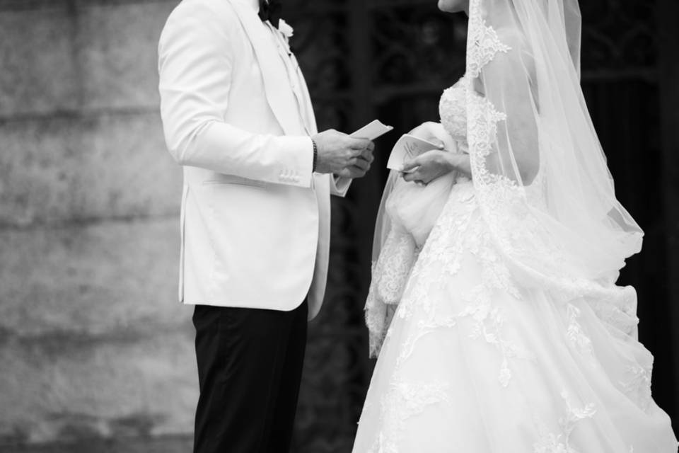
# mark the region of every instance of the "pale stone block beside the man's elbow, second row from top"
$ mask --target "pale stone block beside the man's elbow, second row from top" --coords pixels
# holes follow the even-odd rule
[[[170,157],[160,115],[112,115],[85,131],[75,217],[179,212],[182,170]]]

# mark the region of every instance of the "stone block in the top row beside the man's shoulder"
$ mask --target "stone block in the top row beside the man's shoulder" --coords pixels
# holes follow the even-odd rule
[[[79,10],[85,108],[156,108],[158,38],[174,2],[92,5]]]

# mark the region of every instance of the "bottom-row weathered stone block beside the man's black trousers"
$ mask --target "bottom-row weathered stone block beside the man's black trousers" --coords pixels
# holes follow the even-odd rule
[[[193,339],[10,338],[0,342],[0,442],[190,434],[197,401]],[[9,409],[11,408],[11,409]]]

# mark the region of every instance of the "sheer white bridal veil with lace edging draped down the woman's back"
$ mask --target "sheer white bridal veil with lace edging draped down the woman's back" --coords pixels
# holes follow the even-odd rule
[[[472,180],[497,246],[540,287],[584,296],[615,290],[643,233],[588,114],[580,32],[577,0],[470,0],[465,81]]]

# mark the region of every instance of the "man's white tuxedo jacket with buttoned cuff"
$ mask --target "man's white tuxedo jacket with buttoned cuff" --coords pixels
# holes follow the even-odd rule
[[[323,302],[330,175],[312,173],[316,125],[279,33],[252,0],[184,0],[158,46],[161,117],[184,166],[180,301],[289,311]],[[291,57],[293,62],[294,56]],[[306,108],[311,115],[301,114]],[[303,111],[303,110],[302,110]]]

